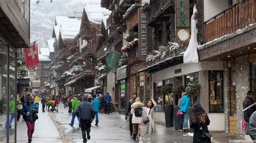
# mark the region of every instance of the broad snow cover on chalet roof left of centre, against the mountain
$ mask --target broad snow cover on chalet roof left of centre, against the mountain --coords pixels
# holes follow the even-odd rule
[[[81,18],[57,16],[56,24],[59,25],[59,31],[62,39],[74,39],[77,33],[79,33]],[[57,30],[58,29],[56,28],[56,33]],[[58,35],[56,34],[56,37],[57,36]]]

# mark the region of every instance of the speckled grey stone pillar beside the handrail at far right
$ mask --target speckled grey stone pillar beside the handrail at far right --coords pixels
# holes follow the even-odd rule
[[[238,117],[238,132],[240,133],[240,126],[242,120],[242,101],[246,97],[246,93],[250,90],[250,63],[249,56],[241,56],[235,59],[237,65],[237,117]]]

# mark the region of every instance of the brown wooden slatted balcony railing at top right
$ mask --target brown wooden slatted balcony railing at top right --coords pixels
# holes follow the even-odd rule
[[[256,22],[256,1],[237,3],[209,19],[205,25],[205,40],[210,42]]]

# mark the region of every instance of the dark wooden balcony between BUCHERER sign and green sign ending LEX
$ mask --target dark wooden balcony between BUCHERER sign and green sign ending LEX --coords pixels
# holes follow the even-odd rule
[[[164,21],[166,17],[170,17],[170,12],[174,13],[174,0],[155,0],[146,5],[147,23],[151,23],[155,20]]]

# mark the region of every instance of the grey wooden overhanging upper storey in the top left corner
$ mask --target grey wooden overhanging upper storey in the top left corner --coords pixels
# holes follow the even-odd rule
[[[0,1],[0,33],[17,47],[30,45],[29,5],[29,0]]]

